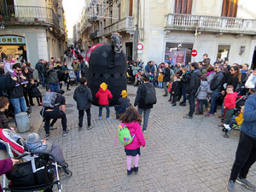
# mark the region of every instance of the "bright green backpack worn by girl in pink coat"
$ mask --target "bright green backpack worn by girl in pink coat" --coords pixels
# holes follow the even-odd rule
[[[134,134],[131,137],[131,133],[125,124],[121,123],[119,125],[117,137],[119,137],[119,142],[122,143],[124,146],[130,144],[133,138],[135,137],[135,135],[136,134]],[[115,143],[116,143],[116,140],[115,140]]]

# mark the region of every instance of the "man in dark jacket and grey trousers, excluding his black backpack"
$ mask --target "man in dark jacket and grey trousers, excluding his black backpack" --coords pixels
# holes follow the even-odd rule
[[[137,96],[135,98],[134,107],[137,106],[138,113],[143,115],[143,132],[145,132],[148,127],[149,113],[151,108],[153,108],[153,104],[145,104],[145,95],[146,90],[150,89],[150,86],[153,86],[153,84],[149,83],[149,73],[144,73],[142,78],[143,84],[140,84],[137,88]]]

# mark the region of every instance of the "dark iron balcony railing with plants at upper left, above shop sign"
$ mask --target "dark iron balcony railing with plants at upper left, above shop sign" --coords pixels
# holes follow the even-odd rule
[[[0,22],[39,23],[59,28],[53,9],[35,6],[0,6]]]

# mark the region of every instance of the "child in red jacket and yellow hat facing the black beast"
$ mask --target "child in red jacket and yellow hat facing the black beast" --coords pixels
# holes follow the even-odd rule
[[[108,90],[108,84],[102,83],[100,85],[100,89],[96,93],[96,98],[99,98],[99,119],[102,119],[102,108],[106,108],[107,110],[107,119],[109,119],[109,101],[108,99],[112,99],[113,96]]]

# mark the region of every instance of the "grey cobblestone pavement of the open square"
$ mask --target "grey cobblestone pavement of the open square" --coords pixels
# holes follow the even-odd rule
[[[98,108],[91,108],[94,128],[78,129],[78,111],[73,101],[74,86],[67,91],[67,125],[70,133],[62,137],[61,121],[58,129],[51,131],[49,141],[63,149],[73,177],[61,173],[63,191],[225,191],[234,161],[239,133],[233,131],[229,138],[218,127],[216,116],[183,119],[187,107],[172,107],[168,98],[157,89],[158,102],[150,113],[148,131],[144,134],[147,147],[142,149],[139,172],[126,175],[125,151],[117,143],[114,109],[111,119],[97,119]],[[137,88],[128,86],[132,103]],[[84,117],[86,119],[86,117]],[[41,131],[44,137],[44,131]],[[254,165],[248,179],[256,181]],[[249,191],[237,185],[238,191]]]

